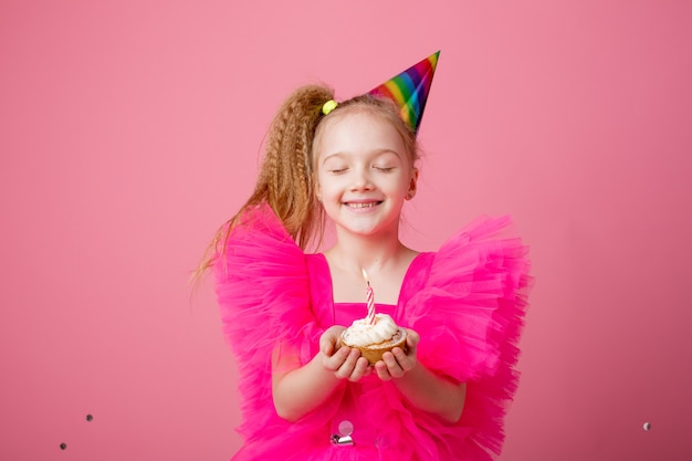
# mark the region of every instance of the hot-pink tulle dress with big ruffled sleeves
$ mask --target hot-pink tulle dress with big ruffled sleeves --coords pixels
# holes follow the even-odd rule
[[[415,408],[375,374],[344,380],[325,405],[291,423],[274,410],[272,352],[290,345],[307,363],[326,328],[348,326],[367,310],[365,302],[333,302],[324,255],[304,254],[268,206],[247,212],[214,261],[223,328],[240,374],[244,443],[232,459],[445,461],[500,453],[517,385],[528,282],[526,248],[493,237],[507,223],[478,220],[437,253],[420,253],[397,305],[377,305],[420,334],[421,364],[468,384],[458,423]]]

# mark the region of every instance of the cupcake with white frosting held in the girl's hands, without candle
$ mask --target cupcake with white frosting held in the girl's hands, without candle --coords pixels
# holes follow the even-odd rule
[[[342,333],[342,345],[360,350],[360,355],[375,365],[382,354],[395,347],[406,352],[406,329],[399,328],[387,314],[375,315],[370,325],[367,318],[355,321]]]

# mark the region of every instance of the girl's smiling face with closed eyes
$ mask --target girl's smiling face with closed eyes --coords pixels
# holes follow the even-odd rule
[[[367,109],[338,114],[324,127],[315,155],[317,199],[339,232],[398,237],[418,170],[389,122]]]

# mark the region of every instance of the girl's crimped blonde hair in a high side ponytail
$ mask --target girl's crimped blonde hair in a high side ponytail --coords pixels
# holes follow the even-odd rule
[[[401,135],[411,165],[418,159],[416,134],[401,119],[391,99],[360,95],[339,103],[328,116],[323,115],[322,107],[333,98],[331,88],[307,85],[294,91],[283,102],[269,129],[254,191],[238,213],[217,231],[192,280],[201,277],[213,264],[218,252],[224,253],[228,237],[243,213],[262,203],[269,203],[301,249],[321,243],[325,218],[315,195],[315,150],[332,124],[328,121],[336,121],[337,114],[368,111],[382,116]]]

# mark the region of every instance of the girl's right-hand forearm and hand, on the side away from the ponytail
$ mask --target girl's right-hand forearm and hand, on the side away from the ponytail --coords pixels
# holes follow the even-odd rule
[[[457,422],[461,418],[466,399],[466,385],[439,376],[416,358],[420,336],[408,329],[408,354],[396,347],[385,353],[375,365],[380,379],[391,379],[403,397],[417,408],[440,418]]]

